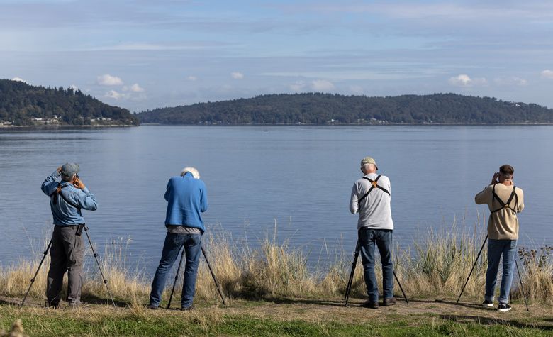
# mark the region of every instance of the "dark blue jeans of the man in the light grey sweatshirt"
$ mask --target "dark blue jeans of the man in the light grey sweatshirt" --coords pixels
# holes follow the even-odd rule
[[[391,229],[359,229],[359,243],[361,243],[361,259],[367,294],[370,302],[378,302],[379,286],[374,275],[374,245],[379,248],[380,263],[382,264],[382,286],[385,299],[393,297],[393,264],[391,258]]]

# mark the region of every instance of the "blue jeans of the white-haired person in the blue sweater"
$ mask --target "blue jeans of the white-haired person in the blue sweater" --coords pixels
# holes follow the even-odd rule
[[[179,251],[184,245],[186,265],[184,267],[184,282],[182,283],[181,306],[189,308],[192,306],[194,292],[196,290],[196,275],[201,253],[201,234],[174,234],[167,233],[163,244],[162,258],[160,265],[155,271],[150,293],[150,306],[160,306],[162,292],[167,280],[167,274],[177,260]]]

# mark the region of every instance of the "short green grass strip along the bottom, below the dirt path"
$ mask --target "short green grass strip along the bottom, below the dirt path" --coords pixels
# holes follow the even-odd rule
[[[240,304],[241,306],[241,304]],[[552,336],[551,326],[440,314],[381,312],[370,320],[241,314],[240,308],[141,311],[109,306],[71,311],[0,306],[0,328],[23,321],[29,336]],[[296,315],[294,315],[296,316]]]

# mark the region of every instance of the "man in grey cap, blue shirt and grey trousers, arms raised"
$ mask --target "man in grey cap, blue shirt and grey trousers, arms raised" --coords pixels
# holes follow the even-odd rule
[[[82,266],[84,243],[77,233],[79,225],[84,225],[81,209],[96,211],[96,197],[84,186],[77,173],[80,167],[66,163],[52,172],[40,189],[50,197],[54,232],[50,248],[50,270],[46,284],[47,307],[60,305],[60,291],[63,275],[67,272],[67,302],[70,307],[81,304]],[[57,178],[61,181],[57,182]]]

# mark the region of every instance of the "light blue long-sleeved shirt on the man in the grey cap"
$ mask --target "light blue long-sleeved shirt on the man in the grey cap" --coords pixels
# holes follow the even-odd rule
[[[63,194],[65,199],[71,201],[74,205],[80,206],[82,209],[96,211],[98,203],[96,202],[96,197],[94,197],[94,194],[91,194],[89,189],[86,187],[84,189],[78,189],[70,182],[65,182],[63,180],[57,182],[57,177],[60,177],[60,173],[54,171],[44,180],[42,187],[40,187],[44,194],[51,196],[57,189],[57,185],[61,184],[61,194]],[[50,209],[54,217],[54,224],[57,226],[73,226],[84,223],[81,212],[74,206],[68,204],[63,197],[56,194],[54,198],[50,198]],[[54,199],[56,201],[55,204],[53,202]]]

